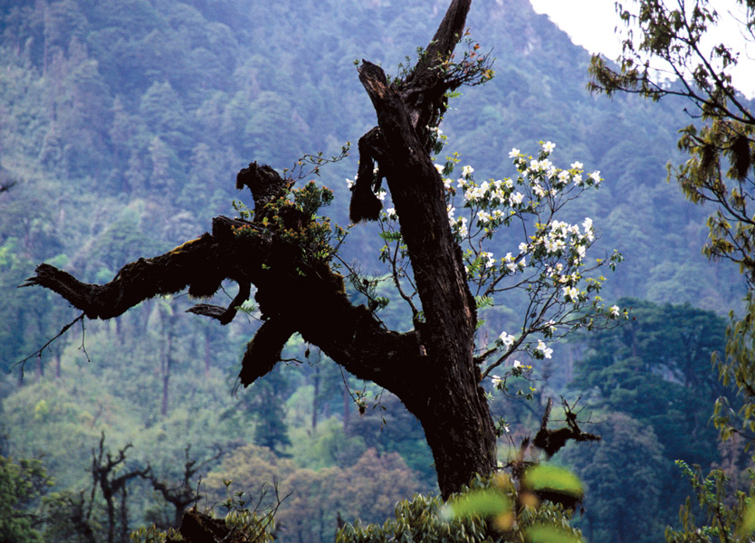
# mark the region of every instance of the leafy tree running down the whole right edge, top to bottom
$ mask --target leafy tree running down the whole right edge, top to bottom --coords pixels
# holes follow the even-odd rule
[[[722,14],[712,2],[694,0],[663,2],[636,0],[636,9],[617,5],[626,24],[623,50],[613,67],[594,56],[590,67],[591,90],[612,96],[637,93],[651,100],[681,97],[692,120],[680,130],[679,148],[688,156],[669,167],[684,195],[695,204],[713,205],[708,219],[709,238],[702,252],[712,260],[728,260],[740,266],[748,285],[744,317],[731,312],[725,357],[718,358],[724,385],[734,384],[745,401],[735,410],[726,398],[716,402],[714,421],[724,439],[740,434],[755,439],[755,116],[736,89],[732,70],[741,58],[731,43],[711,43],[710,31],[725,16],[738,27],[747,43],[755,41],[755,2],[737,0],[739,13]],[[731,35],[731,31],[727,31]],[[746,55],[745,55],[746,56]],[[666,76],[671,80],[667,81]],[[685,466],[683,466],[684,468]],[[721,540],[746,540],[755,527],[742,517],[744,495],[732,509],[731,492],[721,471],[705,478],[686,468],[698,501],[708,514],[709,525],[697,529],[690,503],[682,510],[683,530],[667,531],[673,541],[699,540],[701,532]],[[742,525],[742,521],[744,524]],[[745,529],[736,530],[738,525]]]

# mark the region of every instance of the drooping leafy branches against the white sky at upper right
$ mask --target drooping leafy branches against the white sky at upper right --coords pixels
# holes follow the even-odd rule
[[[709,241],[703,253],[712,260],[740,264],[752,286],[755,261],[750,252],[755,241],[755,223],[749,209],[752,167],[755,164],[755,117],[735,88],[731,70],[740,61],[731,45],[717,44],[708,52],[699,46],[708,38],[722,14],[706,1],[691,5],[665,5],[656,0],[636,0],[633,13],[617,5],[627,27],[636,24],[637,37],[628,31],[618,60],[618,71],[593,56],[589,88],[606,92],[637,92],[660,100],[681,96],[702,119],[680,130],[678,147],[689,158],[678,167],[669,166],[683,194],[693,203],[712,202],[716,211],[708,219]],[[741,18],[729,14],[729,22],[752,33],[755,6],[740,0]],[[670,67],[679,82],[665,85],[653,71]],[[728,167],[727,167],[728,166]]]

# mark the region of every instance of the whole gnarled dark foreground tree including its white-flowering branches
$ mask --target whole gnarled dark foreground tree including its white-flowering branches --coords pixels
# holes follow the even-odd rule
[[[492,472],[496,429],[483,378],[499,384],[502,377],[492,372],[509,371],[502,365],[513,353],[548,358],[552,349],[546,340],[619,318],[617,306],[604,309],[596,296],[602,276],[589,273],[613,267],[620,256],[588,264],[592,221],[557,219],[564,205],[601,179],[579,162],[556,167],[550,141],[541,143],[534,157],[511,150],[515,180],[477,183],[468,166],[453,180],[456,157],[434,164],[450,93],[492,77],[479,45],[467,41],[461,59],[454,58],[470,4],[454,0],[416,65],[396,78],[389,81],[371,62],[358,69],[377,127],[359,139],[350,215],[354,223],[379,221],[383,227],[381,260],[395,296],[411,311],[409,331],[388,329],[378,317],[388,300],[375,295],[375,280],[340,262],[366,304],[349,300],[335,263],[344,231],[334,232],[318,215],[320,206],[330,203],[330,191],[314,182],[294,188],[297,177],[291,172],[281,176],[256,162],[236,181],[237,188],[251,190],[253,210],[237,205],[240,217],[216,217],[212,233],[131,262],[105,285],[82,283],[49,264],[40,265],[27,284],[58,292],[91,319],[111,319],[141,300],[186,287],[191,296],[209,297],[228,279],[239,285],[228,307],[192,308],[222,324],[234,319],[254,285],[263,324],[244,354],[244,386],[268,374],[288,339],[299,333],[354,376],[397,395],[417,417],[444,497],[473,474]],[[304,157],[298,178],[319,175],[327,161]],[[381,214],[381,198],[387,197],[383,180],[394,207]],[[456,199],[457,192],[463,198]],[[456,205],[465,216],[454,215]],[[505,256],[492,248],[492,237],[502,228],[516,232]],[[518,244],[511,242],[514,236],[521,236]],[[521,328],[478,337],[478,312],[514,295],[526,300]]]

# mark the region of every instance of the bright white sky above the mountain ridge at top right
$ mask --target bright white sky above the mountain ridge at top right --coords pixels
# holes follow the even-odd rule
[[[571,41],[589,52],[601,52],[608,59],[616,60],[621,51],[620,40],[615,33],[620,23],[616,15],[614,0],[530,0],[539,14],[548,14],[550,20],[569,34]],[[624,2],[631,5],[630,1]],[[734,85],[748,97],[755,97],[755,44],[744,46],[738,26],[733,23],[730,11],[741,10],[734,0],[711,0],[711,4],[721,15],[721,28],[717,42],[740,44],[740,62],[737,71],[732,72]],[[589,14],[589,15],[586,15]],[[738,15],[740,16],[740,15]],[[724,26],[726,20],[730,22]],[[749,54],[748,54],[749,52]]]

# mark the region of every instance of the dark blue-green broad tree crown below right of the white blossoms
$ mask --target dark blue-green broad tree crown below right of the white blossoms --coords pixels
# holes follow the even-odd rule
[[[688,304],[620,301],[631,319],[588,338],[572,388],[592,391],[596,407],[652,425],[670,461],[711,465],[718,456],[711,405],[731,397],[712,373],[712,356],[725,347],[724,320]]]

